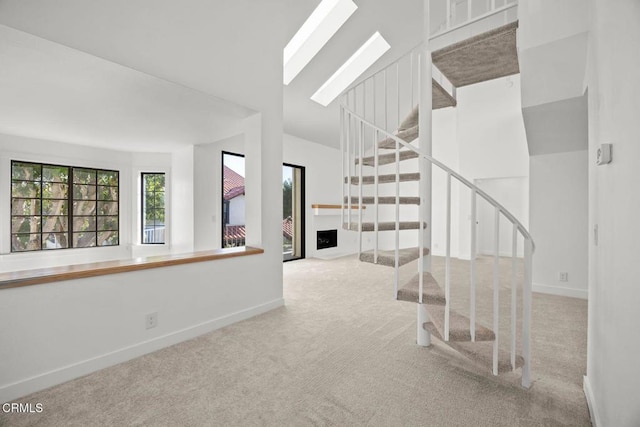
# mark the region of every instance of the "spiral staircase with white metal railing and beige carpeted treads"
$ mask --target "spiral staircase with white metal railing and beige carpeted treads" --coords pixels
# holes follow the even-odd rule
[[[513,28],[511,25],[507,30]],[[495,39],[495,34],[496,31],[492,31],[489,35]],[[473,42],[477,44],[478,40],[481,37],[474,37]],[[425,73],[424,67],[429,67],[430,72]],[[418,105],[420,99],[422,97],[423,103],[425,97],[431,99],[426,103],[428,113],[431,108],[456,105],[455,88],[438,69],[431,67],[431,55],[424,46],[419,46],[342,95],[343,228],[359,233],[360,261],[394,270],[395,298],[418,304],[419,344],[428,345],[432,337],[441,340],[494,375],[521,368],[522,385],[529,387],[533,240],[500,203],[431,156],[430,120],[423,122],[429,134],[421,132],[421,115],[426,113],[423,105]],[[420,85],[424,76],[432,79],[431,85]],[[423,93],[421,86],[425,88]],[[450,90],[444,89],[446,87]],[[445,177],[446,189],[441,193],[446,196],[444,200],[432,201],[436,173]],[[469,283],[452,283],[451,279],[452,183],[468,192],[471,205]],[[495,212],[493,288],[488,307],[479,306],[485,301],[476,298],[478,202],[488,203]],[[362,214],[352,215],[352,209],[344,208],[354,205]],[[428,227],[435,205],[444,206],[446,211],[445,274],[441,284],[430,272]],[[501,218],[511,224],[510,230],[500,230]],[[504,346],[501,340],[505,338],[500,335],[501,252],[498,246],[501,232],[512,236],[510,319],[505,340],[508,345]],[[399,283],[399,269],[415,268],[414,261],[418,264],[417,274],[407,283]],[[522,279],[518,278],[519,269],[523,271]],[[454,285],[468,286],[464,310],[458,309],[460,304],[456,304],[456,310],[452,309]],[[421,315],[421,310],[426,314]],[[491,318],[480,319],[479,312],[490,312]]]

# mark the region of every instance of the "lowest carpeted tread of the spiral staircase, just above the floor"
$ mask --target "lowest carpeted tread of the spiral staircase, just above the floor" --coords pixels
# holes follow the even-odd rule
[[[432,337],[436,337],[439,340],[444,341],[437,329],[427,325],[429,324],[425,323],[425,328],[431,332]],[[449,341],[446,344],[469,359],[479,368],[493,372],[493,341]],[[524,358],[519,354],[516,354],[516,369],[521,368],[523,365]],[[510,372],[511,370],[511,353],[498,349],[498,374]]]

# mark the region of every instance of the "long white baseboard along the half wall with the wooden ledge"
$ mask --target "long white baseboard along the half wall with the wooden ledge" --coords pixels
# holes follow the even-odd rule
[[[0,402],[9,402],[36,391],[62,384],[92,372],[99,371],[100,369],[108,368],[109,366],[117,365],[119,363],[126,362],[127,360],[195,338],[207,332],[223,328],[231,325],[232,323],[266,313],[267,311],[271,311],[283,305],[284,299],[278,298],[264,304],[240,310],[213,320],[208,320],[161,337],[156,337],[101,356],[63,366],[12,384],[4,385],[0,387]]]

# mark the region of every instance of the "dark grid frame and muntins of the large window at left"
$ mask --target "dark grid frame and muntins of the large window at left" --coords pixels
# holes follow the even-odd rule
[[[37,166],[40,168],[40,179],[39,181],[29,181],[29,182],[33,182],[33,183],[39,183],[39,194],[38,197],[15,197],[13,194],[13,183],[14,182],[24,182],[26,180],[20,180],[20,179],[14,179],[14,167],[16,164],[20,164],[20,165],[33,165],[33,166]],[[44,168],[46,167],[54,167],[54,168],[66,168],[68,170],[68,175],[67,175],[67,182],[63,183],[67,186],[67,194],[66,194],[66,198],[65,199],[48,199],[48,198],[43,198],[43,187],[45,182],[49,182],[49,181],[44,181]],[[81,184],[81,183],[74,183],[74,170],[85,170],[85,171],[91,171],[94,176],[95,176],[95,184]],[[100,185],[98,183],[98,174],[100,172],[106,172],[106,173],[115,173],[116,179],[117,179],[117,184],[116,185]],[[69,165],[61,165],[61,164],[55,164],[55,163],[46,163],[46,162],[33,162],[33,161],[25,161],[25,160],[11,160],[11,165],[10,165],[10,183],[11,183],[11,189],[9,191],[9,197],[11,199],[11,203],[10,203],[10,215],[9,215],[9,222],[10,222],[10,228],[9,228],[9,235],[10,235],[10,244],[9,244],[9,252],[12,254],[19,254],[19,253],[27,253],[27,252],[50,252],[50,251],[56,251],[56,250],[61,250],[61,249],[87,249],[87,248],[105,248],[105,247],[115,247],[115,246],[120,246],[120,237],[121,237],[121,224],[120,224],[120,171],[119,170],[115,170],[115,169],[107,169],[107,168],[97,168],[97,167],[85,167],[85,166],[69,166]],[[52,181],[52,182],[57,182],[57,181]],[[95,197],[93,199],[85,199],[87,201],[92,201],[95,202],[95,211],[93,215],[76,215],[74,213],[74,201],[80,201],[83,199],[75,199],[74,198],[74,185],[90,185],[90,186],[94,186],[95,187]],[[115,188],[116,189],[116,200],[111,200],[111,199],[104,199],[104,200],[100,200],[99,199],[99,187],[107,187],[107,188]],[[40,209],[39,209],[39,214],[38,215],[34,215],[34,217],[38,217],[40,220],[40,227],[39,227],[39,231],[36,233],[14,233],[13,232],[13,220],[16,217],[24,217],[24,215],[15,215],[14,214],[14,199],[29,199],[29,200],[36,200],[40,203]],[[50,215],[45,215],[43,213],[43,200],[64,200],[67,203],[67,215],[66,215],[66,225],[67,225],[67,230],[66,231],[60,231],[60,232],[55,232],[55,234],[64,234],[67,237],[67,246],[66,247],[60,247],[60,248],[45,248],[44,247],[44,241],[46,240],[44,235],[45,233],[51,234],[53,232],[47,232],[43,230],[43,218],[50,216]],[[100,215],[99,214],[99,210],[98,210],[98,205],[99,202],[109,202],[109,203],[113,203],[115,202],[117,204],[117,213],[115,215]],[[95,229],[94,230],[88,230],[88,231],[84,231],[83,233],[94,233],[95,234],[95,245],[93,246],[74,246],[74,234],[79,234],[74,232],[73,229],[73,223],[74,223],[74,219],[76,218],[93,218],[95,221]],[[99,219],[100,218],[105,218],[105,217],[115,217],[116,218],[116,229],[110,229],[110,230],[100,230],[99,229]],[[117,243],[115,244],[110,244],[110,245],[98,245],[98,235],[100,232],[102,231],[111,231],[111,232],[115,232],[117,233]],[[20,235],[20,234],[31,234],[31,235],[39,235],[40,236],[40,245],[39,248],[37,249],[26,249],[26,250],[15,250],[14,249],[14,244],[13,244],[13,238],[16,235]]]

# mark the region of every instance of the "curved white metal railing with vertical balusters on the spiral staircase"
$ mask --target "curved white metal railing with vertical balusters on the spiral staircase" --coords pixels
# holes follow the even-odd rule
[[[495,333],[495,341],[493,348],[493,373],[498,373],[498,345],[499,345],[499,259],[500,259],[500,219],[505,218],[511,224],[511,258],[512,258],[512,286],[511,286],[511,365],[513,369],[516,367],[516,348],[518,341],[517,332],[517,295],[518,280],[517,269],[519,265],[518,245],[519,239],[523,241],[523,258],[524,258],[524,280],[522,283],[522,312],[520,319],[522,321],[522,332],[520,335],[520,343],[522,346],[522,357],[524,365],[522,371],[522,384],[525,387],[530,385],[530,326],[531,326],[531,288],[532,288],[532,255],[535,250],[533,239],[526,227],[502,204],[478,188],[472,182],[464,178],[462,175],[446,166],[444,163],[433,158],[430,154],[423,152],[420,148],[413,146],[410,142],[401,139],[396,133],[399,132],[403,117],[402,111],[413,110],[415,101],[419,99],[419,83],[416,84],[415,77],[420,72],[420,53],[417,53],[417,63],[415,61],[416,52],[412,50],[408,55],[394,62],[385,69],[363,80],[359,84],[350,88],[345,92],[341,99],[341,150],[343,153],[342,171],[345,177],[346,186],[343,185],[343,200],[346,199],[346,206],[352,205],[352,198],[358,197],[358,205],[360,214],[357,216],[357,230],[359,231],[359,251],[362,252],[363,240],[363,166],[367,160],[373,163],[374,175],[374,260],[377,262],[379,250],[379,170],[380,165],[379,143],[385,141],[385,147],[393,148],[394,161],[392,167],[395,171],[395,285],[394,292],[397,296],[398,291],[398,268],[399,268],[399,251],[400,251],[400,160],[406,157],[418,158],[421,171],[421,185],[432,185],[431,182],[425,183],[426,176],[431,175],[431,168],[435,166],[446,174],[446,255],[445,255],[445,319],[444,319],[444,340],[449,340],[449,320],[451,306],[451,183],[452,180],[459,182],[467,187],[471,192],[471,242],[470,242],[470,332],[471,339],[475,341],[475,325],[476,325],[476,266],[475,259],[477,255],[477,199],[480,197],[485,200],[494,210],[494,253],[493,253],[493,331]],[[401,72],[402,63],[408,63],[408,69]],[[416,65],[417,64],[417,72]],[[389,76],[389,74],[392,74]],[[394,75],[395,73],[395,75]],[[405,78],[408,76],[408,78]],[[391,89],[389,87],[391,86]],[[379,95],[382,90],[383,95]],[[417,90],[417,93],[414,91]],[[391,92],[391,96],[390,96]],[[409,108],[406,108],[407,105]],[[404,107],[404,108],[403,108]],[[382,111],[383,110],[383,111]],[[391,125],[390,125],[391,124]],[[417,126],[417,123],[416,123]],[[397,129],[396,133],[390,131],[390,128]],[[416,130],[418,128],[416,127]],[[402,151],[401,151],[402,149]],[[407,153],[411,154],[407,156]],[[389,156],[387,154],[387,156]],[[352,166],[355,170],[352,171]],[[357,174],[358,185],[357,194],[352,192],[352,177]],[[346,187],[346,188],[345,188]],[[427,209],[426,200],[423,196],[424,192],[420,191],[421,203],[419,222],[422,224],[426,216]],[[430,194],[430,192],[429,192]],[[430,197],[429,197],[430,199]],[[342,221],[347,229],[352,228],[355,222],[352,218],[352,209],[342,210]],[[422,228],[420,228],[422,230]],[[423,252],[424,252],[424,233],[419,233],[419,253],[420,253],[420,282],[419,282],[419,302],[422,303],[423,295]]]

